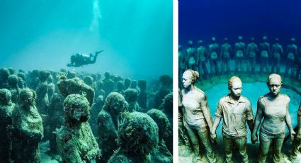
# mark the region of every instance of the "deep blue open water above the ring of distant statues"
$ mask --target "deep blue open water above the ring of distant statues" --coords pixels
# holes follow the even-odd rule
[[[301,43],[300,7],[297,0],[179,0],[179,45],[186,47],[188,40],[193,40],[196,46],[203,40],[208,47],[213,36],[220,45],[225,37],[233,45],[238,35],[245,43],[251,37],[259,43],[267,35],[270,43],[278,37],[286,50],[291,37],[297,45]]]

